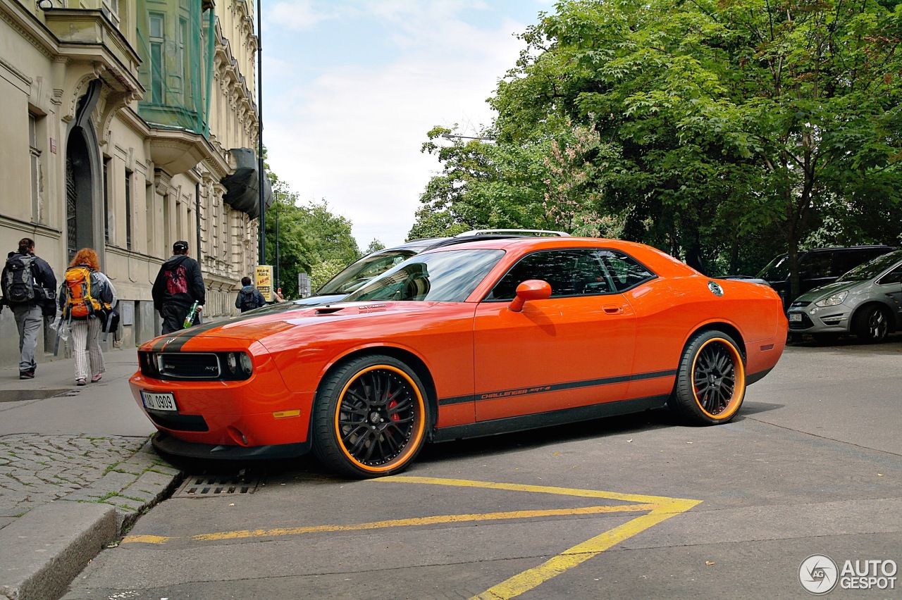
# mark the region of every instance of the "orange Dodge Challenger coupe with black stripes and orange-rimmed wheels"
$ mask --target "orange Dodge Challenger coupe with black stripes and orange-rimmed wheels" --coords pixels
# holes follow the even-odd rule
[[[281,303],[170,333],[131,378],[161,452],[298,456],[379,477],[426,441],[669,407],[729,422],[787,339],[778,295],[639,243],[474,241],[340,304]]]

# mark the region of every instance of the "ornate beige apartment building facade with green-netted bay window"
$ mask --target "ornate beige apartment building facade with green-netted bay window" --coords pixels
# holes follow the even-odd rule
[[[201,265],[207,318],[253,274],[255,31],[247,0],[0,0],[0,241],[32,238],[58,279],[97,250],[124,347],[160,333],[151,286],[174,241]],[[0,332],[12,367],[8,310]],[[39,361],[53,341],[45,328]]]

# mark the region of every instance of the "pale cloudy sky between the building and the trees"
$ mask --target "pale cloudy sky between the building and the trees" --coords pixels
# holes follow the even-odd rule
[[[302,203],[325,199],[361,250],[404,241],[439,170],[435,125],[474,134],[515,34],[551,0],[262,0],[263,143]]]

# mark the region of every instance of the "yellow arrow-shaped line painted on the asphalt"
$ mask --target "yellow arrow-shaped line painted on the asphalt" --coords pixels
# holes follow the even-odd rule
[[[272,537],[277,535],[298,535],[313,532],[353,532],[381,529],[385,527],[410,527],[415,525],[432,525],[440,523],[468,523],[474,521],[498,521],[508,519],[529,519],[535,517],[563,516],[569,514],[604,514],[604,513],[636,513],[649,511],[627,523],[623,523],[613,529],[596,535],[594,538],[574,547],[564,550],[551,559],[546,560],[538,567],[530,568],[522,573],[514,575],[502,583],[492,586],[471,600],[508,600],[528,592],[552,577],[557,577],[570,568],[592,559],[604,550],[612,548],[621,541],[627,540],[637,533],[643,532],[649,527],[661,523],[677,514],[685,513],[693,506],[700,504],[701,500],[689,500],[686,498],[670,498],[663,495],[635,495],[620,494],[617,492],[603,492],[594,489],[578,489],[554,486],[529,486],[522,484],[493,483],[489,481],[471,481],[468,479],[445,479],[438,477],[412,477],[394,476],[369,479],[374,483],[414,483],[434,486],[479,487],[483,489],[499,489],[514,492],[529,492],[533,494],[573,495],[586,498],[604,498],[606,500],[618,500],[633,502],[633,505],[603,505],[585,506],[580,508],[561,508],[536,511],[510,511],[503,513],[484,514],[444,514],[412,519],[392,519],[389,521],[375,521],[372,523],[354,523],[350,525],[312,525],[308,527],[284,527],[276,529],[244,530],[237,532],[202,533],[193,535],[191,541],[220,541],[235,540],[251,537]],[[162,544],[178,538],[160,535],[129,535],[123,543],[143,542]]]

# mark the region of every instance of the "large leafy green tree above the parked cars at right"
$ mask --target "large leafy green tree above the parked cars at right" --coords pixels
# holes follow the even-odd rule
[[[521,37],[498,145],[593,131],[583,201],[675,255],[900,202],[902,13],[866,0],[571,0]],[[899,223],[897,219],[895,223]],[[866,236],[866,221],[856,224]],[[899,227],[881,234],[898,235]],[[872,241],[861,239],[860,241]],[[888,240],[876,240],[888,241]]]

